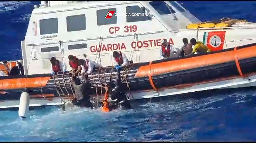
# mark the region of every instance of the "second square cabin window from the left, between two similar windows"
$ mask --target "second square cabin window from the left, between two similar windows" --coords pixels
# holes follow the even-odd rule
[[[67,16],[67,31],[80,31],[86,29],[85,14]]]

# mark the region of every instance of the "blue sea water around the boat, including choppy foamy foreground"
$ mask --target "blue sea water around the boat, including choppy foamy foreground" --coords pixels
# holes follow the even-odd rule
[[[256,22],[255,1],[179,1],[201,21],[229,17]],[[0,61],[21,59],[28,13],[39,1],[0,2]],[[198,93],[199,94],[199,93]],[[0,111],[5,141],[256,141],[256,89],[232,89],[202,98],[134,104],[103,113],[55,106],[35,109],[25,120]]]

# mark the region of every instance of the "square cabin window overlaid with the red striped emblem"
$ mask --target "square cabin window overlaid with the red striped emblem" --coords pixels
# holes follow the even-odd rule
[[[105,18],[109,11],[115,11],[111,18]],[[97,10],[97,25],[109,25],[109,24],[116,24],[117,23],[117,16],[116,16],[117,9],[99,9]]]

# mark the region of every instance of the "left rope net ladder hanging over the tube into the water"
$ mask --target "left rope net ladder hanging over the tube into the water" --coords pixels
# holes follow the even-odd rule
[[[71,110],[73,110],[74,105],[72,100],[75,97],[75,93],[71,84],[71,79],[72,77],[70,77],[69,72],[58,72],[56,75],[53,75],[54,85],[61,99],[62,111],[65,111],[65,104],[68,104],[68,102],[70,102]],[[68,101],[66,101],[66,99]]]

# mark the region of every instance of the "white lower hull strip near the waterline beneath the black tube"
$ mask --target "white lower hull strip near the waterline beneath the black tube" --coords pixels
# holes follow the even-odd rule
[[[250,79],[250,80],[248,80]],[[249,76],[247,78],[236,78],[231,80],[218,81],[213,83],[204,83],[200,85],[194,85],[184,89],[164,89],[161,92],[157,91],[141,91],[132,92],[129,100],[132,99],[143,99],[143,98],[153,98],[160,96],[174,96],[176,94],[190,93],[203,90],[213,90],[213,89],[229,89],[229,88],[240,88],[240,87],[250,87],[256,86],[256,75]],[[66,100],[67,103],[69,103]],[[29,106],[49,106],[49,105],[61,105],[61,100],[59,97],[54,97],[52,101],[44,99],[31,99]],[[13,108],[19,106],[19,100],[6,100],[0,102],[0,108]]]

